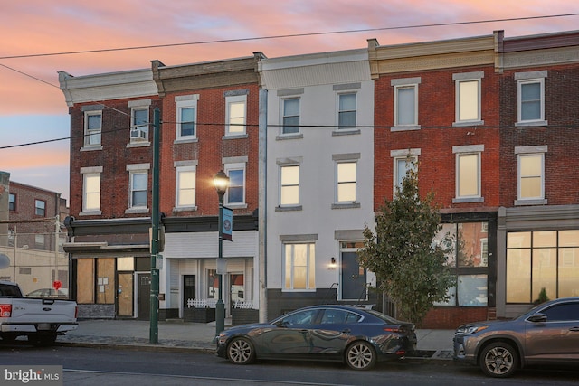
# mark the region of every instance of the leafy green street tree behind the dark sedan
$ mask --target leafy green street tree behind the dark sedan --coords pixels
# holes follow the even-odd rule
[[[448,235],[435,241],[441,230],[441,204],[434,202],[433,192],[420,199],[416,165],[412,166],[394,200],[386,199],[376,213],[375,232],[365,226],[365,246],[358,250],[358,259],[375,272],[378,289],[394,302],[398,317],[421,325],[434,302],[449,300],[447,291],[455,278],[447,256],[453,242]]]

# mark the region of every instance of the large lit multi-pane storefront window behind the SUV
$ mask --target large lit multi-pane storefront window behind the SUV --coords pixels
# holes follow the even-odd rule
[[[577,297],[579,230],[507,233],[507,303]]]

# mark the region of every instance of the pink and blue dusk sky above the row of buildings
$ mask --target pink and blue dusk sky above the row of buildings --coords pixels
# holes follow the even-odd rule
[[[577,15],[504,21],[560,14]],[[503,21],[486,22],[493,20]],[[508,38],[572,31],[578,22],[574,0],[3,2],[0,170],[12,181],[69,198],[70,119],[57,71],[81,76],[146,69],[152,60],[177,65],[252,52],[273,58],[365,48],[373,38],[386,45],[495,30]],[[418,27],[426,24],[453,25]],[[307,33],[319,34],[281,37]]]

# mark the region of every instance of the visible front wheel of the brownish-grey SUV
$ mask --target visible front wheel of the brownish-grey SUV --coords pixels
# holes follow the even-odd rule
[[[518,353],[510,344],[494,342],[482,349],[479,364],[485,375],[507,378],[517,371]]]

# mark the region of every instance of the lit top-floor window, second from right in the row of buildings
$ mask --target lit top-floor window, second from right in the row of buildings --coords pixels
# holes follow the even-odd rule
[[[483,71],[452,75],[456,85],[456,108],[453,126],[482,125],[480,116],[480,85]]]

